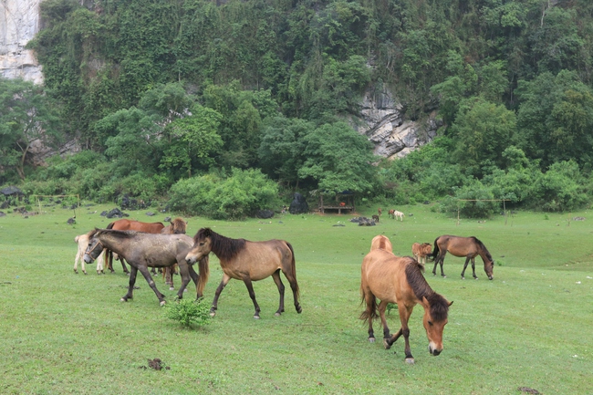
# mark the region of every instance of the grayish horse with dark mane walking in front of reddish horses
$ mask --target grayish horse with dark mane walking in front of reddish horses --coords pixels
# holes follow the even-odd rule
[[[190,282],[190,278],[195,283],[197,297],[203,296],[203,288],[208,282],[209,275],[208,257],[204,256],[200,260],[200,275],[197,275],[192,265],[188,265],[185,261],[185,255],[192,248],[192,237],[185,234],[145,234],[111,229],[96,229],[89,236],[90,240],[84,256],[85,262],[89,263],[99,256],[103,248],[109,248],[130,264],[130,285],[128,293],[121,298],[122,302],[132,298],[136,275],[140,271],[154,294],[159,298],[161,306],[164,305],[164,295],[159,292],[152,281],[148,268],[168,267],[174,264],[179,265],[182,275],[182,286],[177,292],[177,297],[180,299],[183,297],[183,290]]]

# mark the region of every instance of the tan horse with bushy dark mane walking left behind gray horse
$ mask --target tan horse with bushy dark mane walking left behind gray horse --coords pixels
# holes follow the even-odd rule
[[[260,308],[255,300],[252,281],[264,279],[270,275],[280,293],[280,306],[276,316],[284,312],[284,284],[280,279],[280,271],[286,276],[290,283],[295,298],[296,312],[303,311],[298,303],[298,283],[296,283],[295,252],[292,245],[285,240],[268,240],[266,242],[250,242],[245,239],[232,239],[213,232],[210,228],[202,228],[193,236],[192,250],[185,259],[189,264],[196,260],[203,259],[212,251],[220,260],[223,268],[223,281],[221,281],[216,293],[210,315],[216,314],[218,308],[218,297],[223,292],[224,286],[231,280],[243,280],[249,296],[254,302],[254,318],[259,318]]]

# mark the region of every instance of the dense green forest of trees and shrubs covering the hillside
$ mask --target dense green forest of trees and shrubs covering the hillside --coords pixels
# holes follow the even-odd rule
[[[41,13],[28,47],[45,86],[0,79],[0,184],[216,218],[311,191],[443,211],[591,203],[588,0],[45,0]],[[385,88],[405,119],[442,120],[396,161],[348,121]],[[84,151],[34,168],[39,137]]]

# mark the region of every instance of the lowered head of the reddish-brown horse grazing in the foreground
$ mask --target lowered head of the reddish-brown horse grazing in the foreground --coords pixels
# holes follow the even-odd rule
[[[432,293],[428,298],[422,296],[421,305],[424,307],[422,323],[429,341],[428,352],[437,356],[442,352],[442,331],[447,325],[449,307],[453,305],[453,302],[448,302],[441,295]]]

